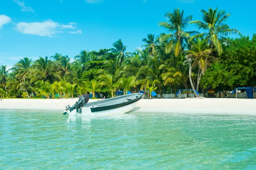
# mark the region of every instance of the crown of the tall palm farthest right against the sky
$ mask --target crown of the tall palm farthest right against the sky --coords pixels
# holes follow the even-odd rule
[[[195,20],[190,23],[195,24],[198,29],[202,28],[207,32],[194,35],[190,40],[205,37],[209,41],[210,48],[216,49],[216,51],[218,51],[218,55],[221,55],[222,47],[220,39],[225,38],[229,34],[239,33],[239,31],[231,29],[226,24],[230,14],[226,14],[226,11],[224,10],[218,11],[218,8],[215,10],[209,8],[208,11],[201,10],[200,12],[202,13],[203,21]]]

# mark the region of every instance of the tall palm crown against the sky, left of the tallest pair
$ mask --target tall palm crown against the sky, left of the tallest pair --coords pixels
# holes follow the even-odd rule
[[[192,20],[192,15],[184,16],[184,10],[180,11],[179,8],[173,10],[173,13],[166,13],[165,18],[167,22],[158,23],[160,26],[165,28],[167,31],[173,32],[171,34],[164,34],[160,36],[160,40],[169,42],[166,45],[166,53],[170,53],[174,50],[175,57],[180,54],[180,51],[184,49],[186,45],[186,39],[189,38],[191,34],[196,34],[195,31],[184,31],[188,26],[189,22]]]

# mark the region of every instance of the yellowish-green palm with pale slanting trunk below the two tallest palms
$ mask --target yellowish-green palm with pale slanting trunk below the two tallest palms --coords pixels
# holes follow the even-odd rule
[[[185,51],[187,53],[187,55],[185,56],[187,60],[185,62],[189,62],[190,65],[191,65],[191,62],[193,62],[192,65],[189,66],[191,68],[195,68],[196,65],[199,66],[197,87],[196,87],[196,90],[198,91],[202,74],[204,74],[208,66],[211,67],[210,61],[215,62],[217,58],[210,56],[210,54],[212,53],[212,49],[208,48],[207,39],[204,39],[204,40],[198,39],[196,42],[192,41],[191,43],[192,43],[191,51],[188,51],[188,50]],[[190,80],[190,83],[192,83],[192,80]]]

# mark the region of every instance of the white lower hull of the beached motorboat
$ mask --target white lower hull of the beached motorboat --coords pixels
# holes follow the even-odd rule
[[[106,116],[106,115],[115,115],[115,114],[122,114],[127,113],[131,110],[133,110],[136,106],[137,102],[133,102],[129,105],[125,105],[119,108],[113,108],[107,111],[97,111],[92,112],[92,107],[83,107],[81,108],[81,113],[76,112],[76,110],[73,110],[69,113],[69,115],[81,115],[81,116]]]

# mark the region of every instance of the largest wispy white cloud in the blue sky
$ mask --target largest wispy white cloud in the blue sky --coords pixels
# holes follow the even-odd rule
[[[76,29],[76,23],[69,23],[68,25],[61,25],[52,20],[46,20],[44,22],[35,23],[17,23],[15,29],[23,34],[32,34],[39,36],[54,37],[55,34],[60,33],[71,33],[71,34],[81,34],[81,30],[77,33],[76,31],[63,31],[64,29]]]

